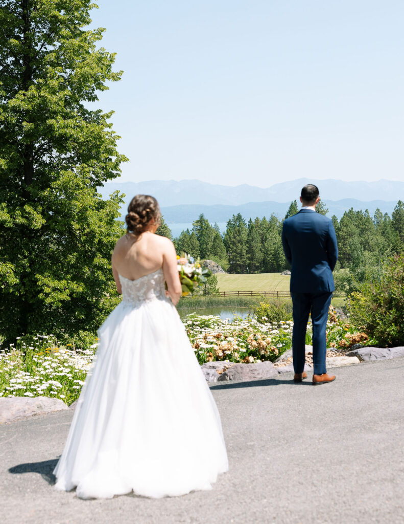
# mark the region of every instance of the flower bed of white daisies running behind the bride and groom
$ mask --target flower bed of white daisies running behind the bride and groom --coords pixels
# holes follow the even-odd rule
[[[199,364],[206,362],[255,363],[274,362],[291,348],[292,321],[270,323],[254,318],[232,321],[215,315],[187,315],[185,329]],[[67,405],[80,395],[85,377],[91,369],[97,339],[87,348],[58,344],[53,335],[36,335],[18,339],[17,344],[0,349],[0,397],[53,397]],[[365,333],[330,311],[327,347],[344,354],[355,343],[373,344]],[[307,326],[306,344],[311,345],[311,323]]]

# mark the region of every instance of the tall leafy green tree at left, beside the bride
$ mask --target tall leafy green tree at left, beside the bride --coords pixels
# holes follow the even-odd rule
[[[90,108],[117,81],[88,29],[89,0],[0,0],[0,334],[94,331],[117,303],[110,255],[118,193],[97,187],[126,158],[112,112]]]

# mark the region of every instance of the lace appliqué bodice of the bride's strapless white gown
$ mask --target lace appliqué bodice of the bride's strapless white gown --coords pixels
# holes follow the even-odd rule
[[[150,300],[168,300],[165,296],[164,275],[160,268],[149,275],[130,280],[119,275],[122,286],[122,303],[132,307],[139,307],[143,302]]]

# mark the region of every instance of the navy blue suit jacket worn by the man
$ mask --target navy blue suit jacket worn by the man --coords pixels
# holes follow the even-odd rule
[[[332,271],[338,259],[334,225],[311,209],[301,209],[283,223],[282,244],[291,264],[290,291],[334,291]]]

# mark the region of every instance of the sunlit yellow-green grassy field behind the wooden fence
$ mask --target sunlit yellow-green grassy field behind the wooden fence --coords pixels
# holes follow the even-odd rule
[[[220,291],[289,291],[290,276],[279,273],[216,276]]]

